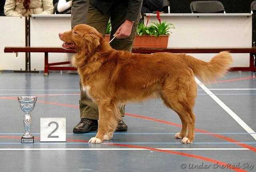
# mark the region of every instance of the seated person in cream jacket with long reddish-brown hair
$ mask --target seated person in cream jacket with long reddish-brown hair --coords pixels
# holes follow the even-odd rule
[[[6,16],[28,16],[31,14],[53,14],[52,0],[6,0]]]

